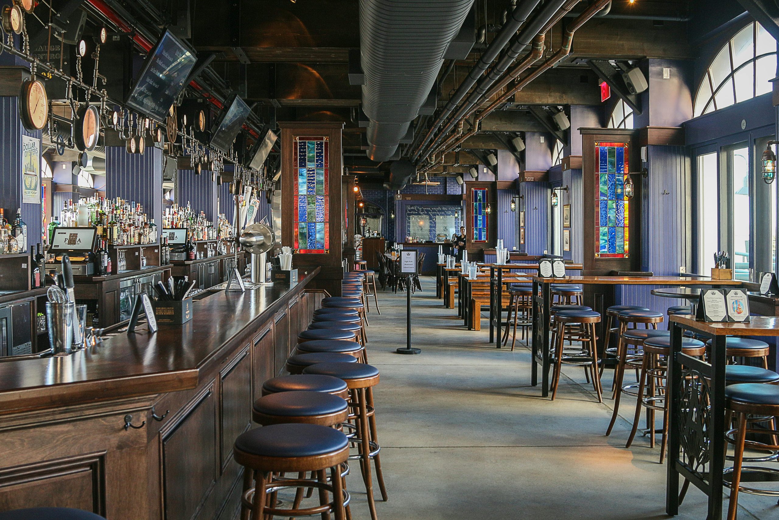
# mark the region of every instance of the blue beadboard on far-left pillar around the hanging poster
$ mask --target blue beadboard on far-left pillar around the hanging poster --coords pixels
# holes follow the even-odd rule
[[[19,120],[19,98],[0,97],[0,207],[13,221],[21,207],[27,225],[27,248],[41,242],[41,204],[22,203],[22,136],[41,139],[41,132],[27,132]]]

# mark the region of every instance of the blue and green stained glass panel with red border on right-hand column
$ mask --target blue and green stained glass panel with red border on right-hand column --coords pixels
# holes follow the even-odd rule
[[[628,258],[627,143],[595,143],[595,257]]]

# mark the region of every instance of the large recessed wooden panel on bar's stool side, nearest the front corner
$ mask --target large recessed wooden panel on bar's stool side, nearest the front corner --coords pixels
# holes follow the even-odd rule
[[[165,520],[191,520],[217,481],[213,384],[189,401],[162,438]]]

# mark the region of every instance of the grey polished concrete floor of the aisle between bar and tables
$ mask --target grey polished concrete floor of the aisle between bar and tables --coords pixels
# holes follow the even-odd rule
[[[435,299],[435,282],[422,284],[411,310],[421,355],[394,352],[406,342],[405,294],[379,292],[382,314],[369,314],[390,493],[377,502],[380,520],[668,518],[659,447],[650,449],[646,437],[624,447],[635,401],[605,437],[612,400],[598,404],[581,369],[566,370],[555,401],[541,398],[530,386],[526,348],[488,345],[487,327],[465,330],[456,310]],[[358,472],[348,487],[353,518],[370,518]],[[779,518],[770,497],[740,502],[738,518]],[[691,489],[677,518],[706,518],[703,493]]]

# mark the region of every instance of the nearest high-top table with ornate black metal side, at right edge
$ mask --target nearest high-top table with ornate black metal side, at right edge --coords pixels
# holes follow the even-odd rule
[[[684,331],[693,331],[713,340],[710,363],[682,353]],[[779,318],[753,316],[749,323],[712,323],[671,316],[671,358],[666,374],[666,387],[671,389],[665,489],[668,515],[679,514],[681,475],[687,481],[685,487],[693,483],[709,497],[708,518],[722,518],[724,432],[728,427],[725,424],[727,336],[779,336]],[[689,401],[683,409],[682,398]]]

